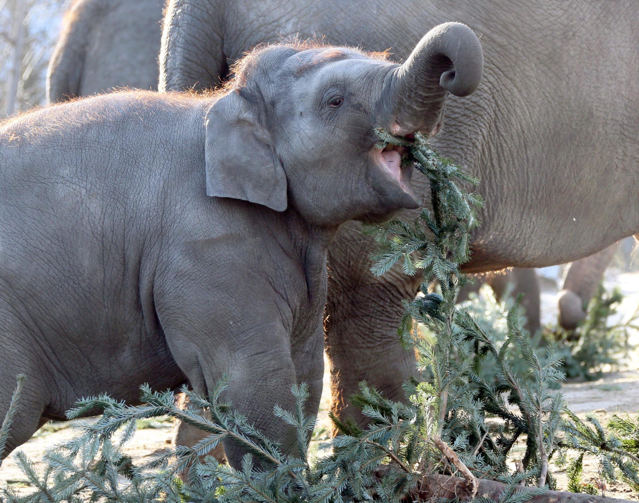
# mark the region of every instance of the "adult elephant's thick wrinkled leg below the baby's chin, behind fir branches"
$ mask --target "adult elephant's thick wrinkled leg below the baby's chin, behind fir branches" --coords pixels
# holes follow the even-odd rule
[[[344,226],[329,250],[326,350],[332,412],[340,419],[366,419],[350,397],[362,380],[391,400],[404,400],[402,384],[415,375],[415,354],[399,344],[404,299],[413,299],[420,277],[394,267],[381,277],[369,271],[374,241],[357,224]],[[334,432],[335,433],[335,432]]]

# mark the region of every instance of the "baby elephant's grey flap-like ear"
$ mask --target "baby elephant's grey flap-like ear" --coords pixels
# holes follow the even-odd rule
[[[242,199],[275,211],[288,204],[286,174],[249,101],[236,92],[206,115],[206,193]]]

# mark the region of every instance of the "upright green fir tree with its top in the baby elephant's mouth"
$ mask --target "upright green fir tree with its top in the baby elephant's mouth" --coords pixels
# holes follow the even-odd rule
[[[404,273],[423,275],[421,296],[406,301],[399,338],[404,346],[416,347],[420,368],[429,368],[434,377],[428,391],[433,396],[437,435],[476,474],[510,483],[536,480],[540,487],[553,488],[548,460],[557,449],[564,402],[548,385],[563,379],[557,370],[560,359],[550,352],[544,364],[539,361],[530,340],[521,333],[517,308],[509,315],[505,342],[498,345],[468,312],[456,306],[459,288],[468,282],[460,266],[470,259],[470,233],[479,225],[477,209],[482,206],[481,197],[458,182],[475,186],[478,181],[440,158],[419,133],[413,142],[382,130],[378,135],[385,143],[410,148],[406,161],[414,161],[431,186],[433,209],[423,209],[413,225],[396,220],[367,232],[381,246],[373,256],[373,273],[383,274],[401,261]],[[434,291],[435,282],[441,294]],[[420,338],[418,323],[436,334],[434,347]],[[511,346],[527,362],[527,375],[516,375],[510,368]],[[479,372],[487,358],[498,368],[497,386]],[[518,407],[519,414],[509,409],[509,403]],[[503,421],[492,432],[485,421],[489,416]],[[509,475],[507,456],[524,435],[523,470]]]

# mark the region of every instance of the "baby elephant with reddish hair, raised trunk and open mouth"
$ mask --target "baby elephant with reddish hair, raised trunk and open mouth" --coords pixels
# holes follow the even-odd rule
[[[215,94],[122,92],[4,123],[0,417],[27,382],[3,456],[81,396],[206,393],[223,373],[225,400],[291,449],[272,408],[304,381],[317,412],[328,244],[344,221],[419,206],[374,128],[436,130],[482,64],[449,23],[403,65],[273,45]]]

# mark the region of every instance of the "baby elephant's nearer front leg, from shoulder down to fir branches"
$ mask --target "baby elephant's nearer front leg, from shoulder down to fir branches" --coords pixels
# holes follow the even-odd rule
[[[226,374],[220,403],[231,403],[284,453],[295,453],[295,431],[273,414],[275,405],[295,409],[293,313],[259,277],[253,282],[238,282],[233,275],[219,279],[205,266],[203,272],[197,267],[187,267],[190,282],[178,270],[156,285],[158,320],[171,355],[198,394],[208,393]],[[174,278],[187,288],[176,288]],[[253,300],[250,309],[246,299]],[[233,436],[224,439],[224,452],[231,466],[240,468],[247,449]]]

